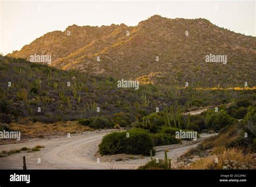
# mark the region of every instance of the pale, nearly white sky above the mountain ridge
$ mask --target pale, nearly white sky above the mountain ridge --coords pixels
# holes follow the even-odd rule
[[[153,15],[205,18],[237,33],[256,36],[256,1],[3,1],[0,0],[0,52],[20,50],[51,31],[69,25],[136,26]]]

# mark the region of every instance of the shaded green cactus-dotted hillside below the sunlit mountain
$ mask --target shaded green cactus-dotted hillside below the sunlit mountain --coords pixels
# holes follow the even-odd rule
[[[255,90],[249,89],[202,90],[153,84],[142,84],[138,90],[117,88],[117,80],[112,77],[60,70],[4,56],[0,56],[0,77],[2,123],[23,118],[51,123],[108,116],[118,118],[117,124],[131,124],[156,112],[156,107],[164,111],[173,105],[178,112],[187,112],[237,99],[255,100]]]

